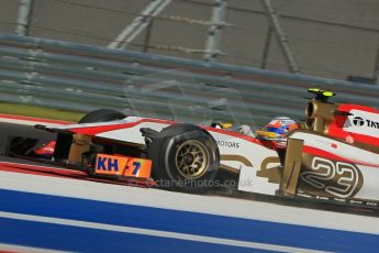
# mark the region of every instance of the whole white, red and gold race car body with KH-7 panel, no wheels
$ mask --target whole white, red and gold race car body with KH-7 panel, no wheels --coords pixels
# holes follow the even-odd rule
[[[285,148],[275,141],[201,125],[218,145],[220,169],[237,175],[237,189],[242,191],[377,208],[379,111],[328,102],[334,95],[331,91],[309,91],[314,97],[305,107],[306,120],[287,135]],[[152,179],[151,163],[156,161],[146,155],[144,131],[160,132],[178,123],[126,117],[109,122],[36,128],[57,133],[55,162],[87,167],[93,175]],[[126,152],[119,154],[119,147]],[[91,155],[96,155],[94,160]],[[122,165],[114,165],[116,160]],[[142,168],[138,172],[136,163]],[[115,166],[118,174],[110,173]],[[134,169],[127,170],[130,167]]]

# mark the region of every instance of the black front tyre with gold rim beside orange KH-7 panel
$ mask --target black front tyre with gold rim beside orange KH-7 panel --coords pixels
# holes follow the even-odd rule
[[[154,139],[148,150],[153,178],[160,188],[200,193],[214,186],[220,167],[216,142],[192,124],[174,124]]]

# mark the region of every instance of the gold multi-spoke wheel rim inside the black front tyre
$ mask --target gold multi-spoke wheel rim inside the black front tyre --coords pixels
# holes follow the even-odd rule
[[[198,141],[187,141],[179,145],[176,153],[177,169],[187,179],[201,177],[209,166],[209,152]]]

